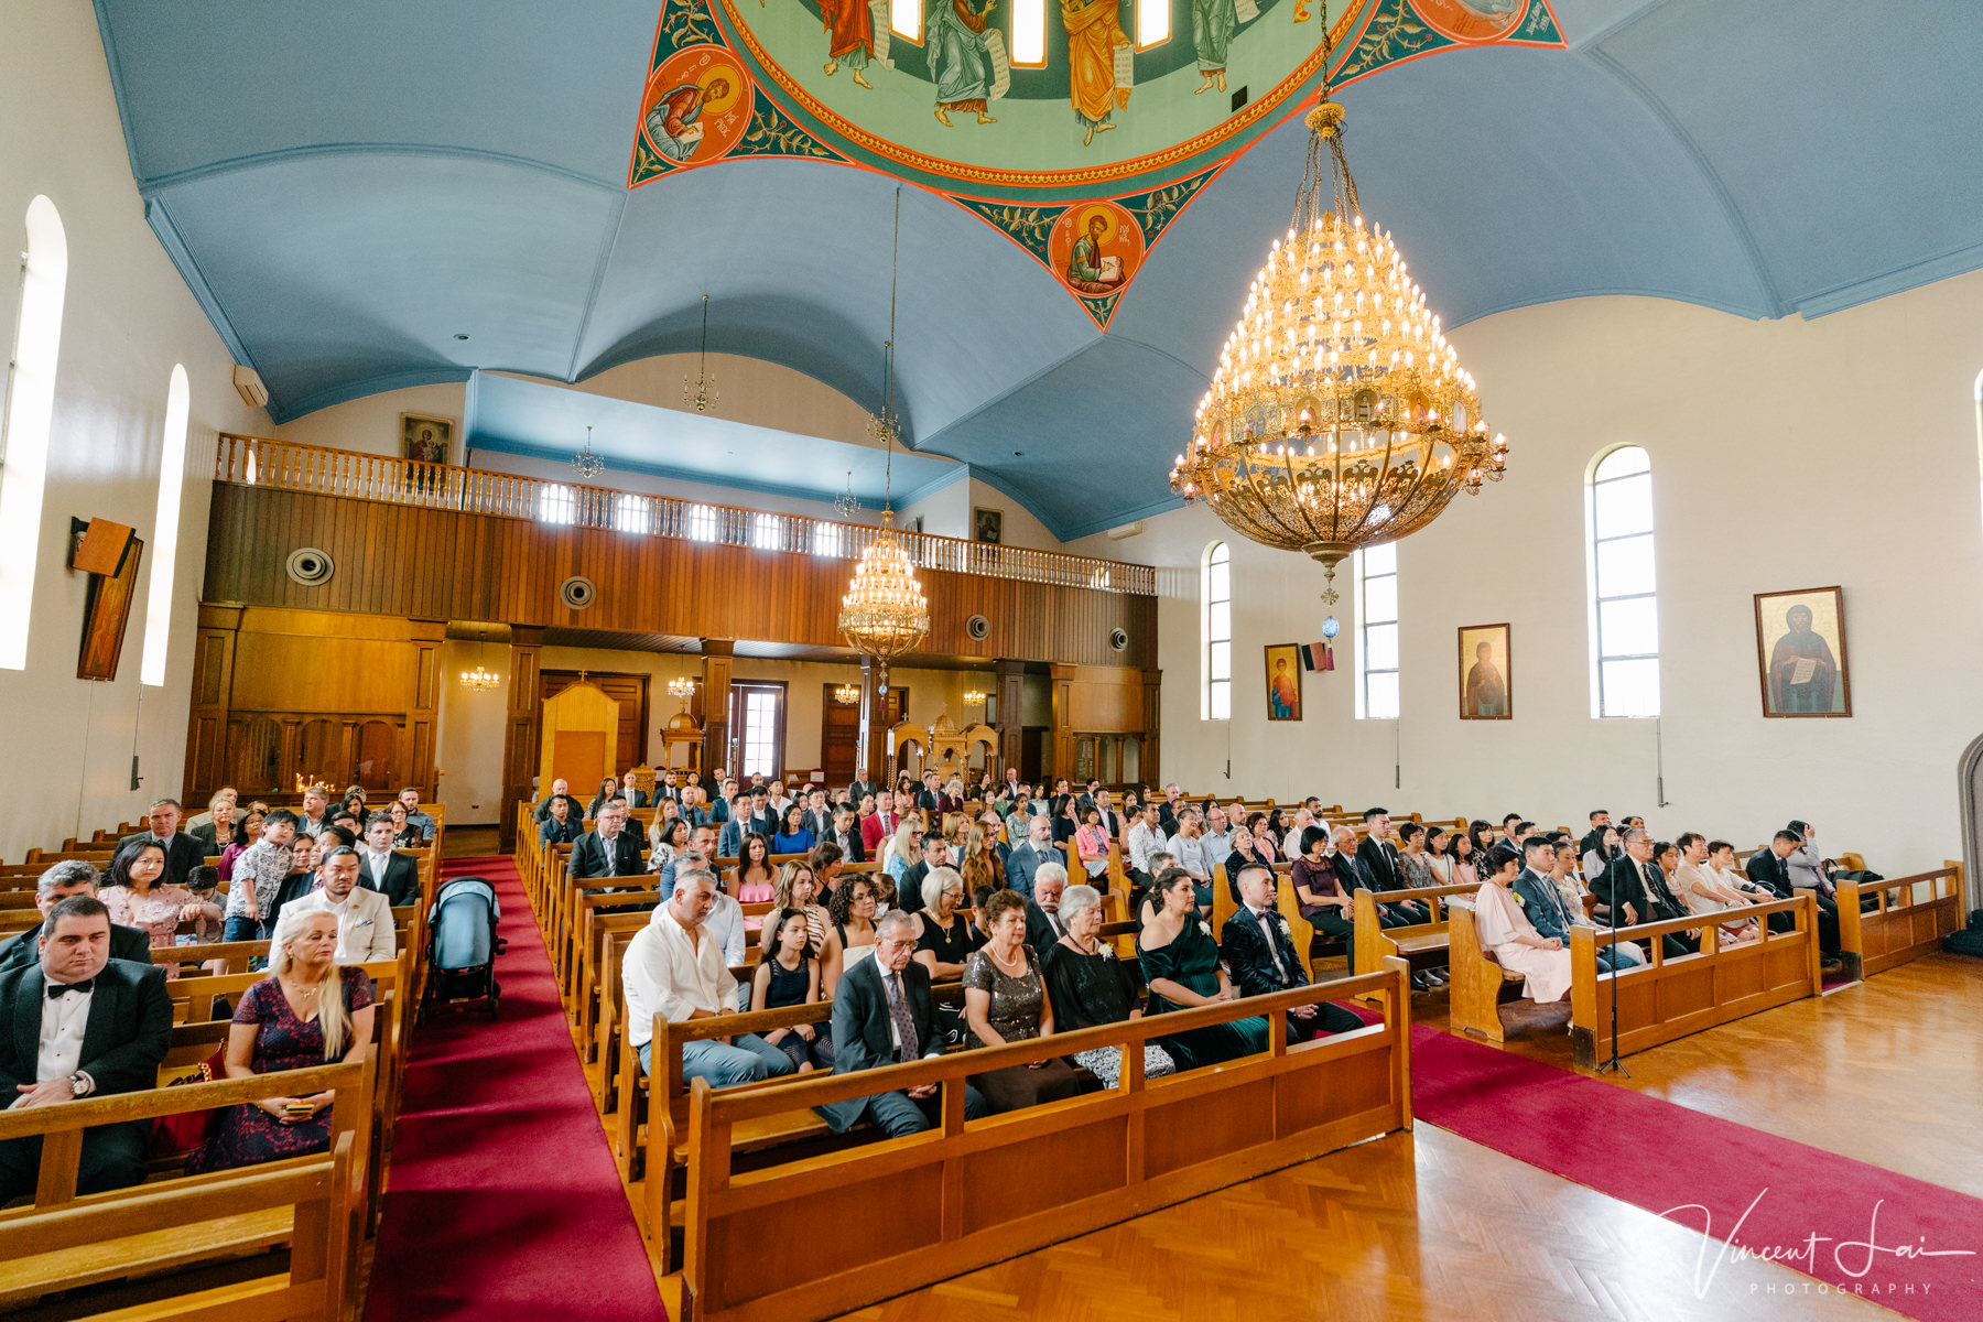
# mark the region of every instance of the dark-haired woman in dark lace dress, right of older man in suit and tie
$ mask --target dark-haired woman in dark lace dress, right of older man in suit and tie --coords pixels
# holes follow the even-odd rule
[[[980,1047],[1053,1037],[1053,1005],[1033,947],[1025,943],[1025,896],[986,896],[986,943],[964,963],[964,1023]],[[993,1114],[1057,1102],[1081,1090],[1081,1076],[1049,1056],[974,1074]]]

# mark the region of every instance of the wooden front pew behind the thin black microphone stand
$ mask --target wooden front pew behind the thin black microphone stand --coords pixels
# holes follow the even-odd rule
[[[1668,959],[1652,939],[1652,963],[1598,973],[1596,953],[1610,932],[1571,928],[1571,1043],[1576,1064],[1590,1068],[1610,1048],[1610,1005],[1618,999],[1618,1054],[1646,1050],[1678,1037],[1814,997],[1820,989],[1816,902],[1808,892],[1739,910],[1757,924],[1759,939],[1723,945],[1721,928],[1701,918],[1674,918],[1618,928],[1622,941],[1646,941],[1678,932],[1701,934],[1701,949]],[[1771,914],[1795,914],[1791,932],[1771,932]]]

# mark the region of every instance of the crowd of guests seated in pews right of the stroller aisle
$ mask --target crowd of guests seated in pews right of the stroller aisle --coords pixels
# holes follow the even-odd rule
[[[623,959],[627,1035],[642,1070],[652,1066],[654,1015],[690,1021],[805,1003],[831,1003],[831,1019],[682,1045],[686,1078],[714,1086],[811,1070],[855,1072],[946,1048],[995,1047],[1142,1015],[1216,1005],[1309,983],[1277,904],[1277,866],[1317,941],[1342,939],[1354,967],[1354,896],[1434,886],[1475,888],[1483,949],[1525,979],[1535,1001],[1567,999],[1571,930],[1717,916],[1721,941],[1757,937],[1741,910],[1808,890],[1818,902],[1820,945],[1836,961],[1832,880],[1791,823],[1737,864],[1735,848],[1699,832],[1654,840],[1638,817],[1612,825],[1590,813],[1590,832],[1541,830],[1521,815],[1499,828],[1362,813],[1364,830],[1325,821],[1319,799],[1249,811],[1243,803],[1194,805],[1176,785],[1130,791],[1120,809],[1089,783],[1025,785],[1007,773],[966,791],[924,773],[918,787],[851,785],[827,803],[823,787],[724,779],[720,797],[692,781],[656,785],[648,852],[627,826],[639,791],[605,783],[579,828],[565,785],[537,805],[543,840],[571,842],[569,876],[646,874],[664,896]],[[1110,844],[1130,884],[1134,969],[1103,939]],[[718,860],[734,866],[718,870]],[[845,864],[871,870],[843,872]],[[1231,918],[1212,930],[1214,884],[1224,868]],[[1069,884],[1073,876],[1083,884]],[[742,904],[769,904],[761,920]],[[1438,904],[1408,898],[1376,906],[1384,928],[1428,924]],[[1588,916],[1586,916],[1588,914]],[[1791,914],[1773,914],[1789,928]],[[1686,932],[1662,937],[1666,955],[1699,947]],[[759,959],[744,983],[748,943]],[[1646,961],[1638,943],[1600,939],[1600,969]],[[1368,971],[1368,969],[1364,969]],[[1444,971],[1414,973],[1430,991]],[[962,995],[938,995],[954,987]],[[1287,1017],[1289,1041],[1360,1027],[1344,1007],[1321,1003]],[[1267,1050],[1271,1021],[1237,1019],[1158,1039],[1144,1074],[1216,1064]],[[972,1076],[966,1114],[997,1114],[1114,1086],[1118,1050],[988,1070]],[[821,1108],[839,1132],[861,1120],[886,1134],[936,1122],[934,1094],[894,1092]]]

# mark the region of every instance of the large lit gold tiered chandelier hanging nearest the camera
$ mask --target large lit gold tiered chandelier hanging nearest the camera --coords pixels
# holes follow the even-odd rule
[[[1295,220],[1247,289],[1170,488],[1241,537],[1321,561],[1335,605],[1346,555],[1499,482],[1507,438],[1489,438],[1390,234],[1364,226],[1327,87],[1307,125]]]

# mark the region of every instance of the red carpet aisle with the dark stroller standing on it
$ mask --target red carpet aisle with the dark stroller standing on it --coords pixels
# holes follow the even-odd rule
[[[454,876],[496,886],[502,1017],[412,1039],[367,1318],[666,1322],[516,866],[458,858]]]

